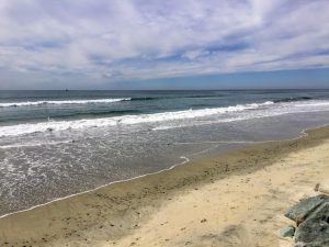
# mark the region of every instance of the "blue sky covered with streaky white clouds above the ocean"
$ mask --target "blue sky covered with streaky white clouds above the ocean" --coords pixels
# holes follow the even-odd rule
[[[1,89],[329,88],[328,0],[1,0]]]

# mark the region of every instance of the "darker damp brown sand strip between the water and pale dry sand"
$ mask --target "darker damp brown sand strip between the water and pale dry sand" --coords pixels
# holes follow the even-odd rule
[[[150,215],[172,201],[178,193],[186,193],[191,189],[194,190],[194,187],[209,184],[227,177],[264,169],[287,154],[316,146],[328,137],[329,127],[325,125],[303,131],[298,137],[288,141],[263,142],[193,160],[189,166],[178,165],[156,173],[61,198],[44,205],[1,216],[0,236],[5,243],[16,243],[16,245],[31,242],[34,243],[32,246],[60,246],[60,243],[72,242],[76,244],[70,246],[80,246],[77,244],[81,244],[78,235],[82,234],[77,233],[83,233],[88,236],[86,239],[95,243],[93,246],[103,246],[105,239],[117,239],[134,232],[140,223],[147,222]],[[261,162],[258,157],[261,157]],[[215,159],[217,160],[214,161]],[[246,161],[241,164],[241,160]],[[54,223],[53,220],[59,223]],[[66,223],[72,220],[77,224],[71,228],[63,227],[61,220]],[[100,223],[102,223],[101,228]],[[70,224],[73,223],[68,225]],[[23,234],[18,234],[22,232]],[[47,239],[46,243],[43,239]],[[89,240],[86,242],[88,246]]]

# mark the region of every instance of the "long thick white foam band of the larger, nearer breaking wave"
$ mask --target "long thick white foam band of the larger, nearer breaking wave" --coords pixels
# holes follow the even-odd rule
[[[24,134],[32,134],[37,132],[55,132],[66,130],[79,130],[90,127],[104,127],[114,126],[118,124],[132,125],[140,123],[164,122],[173,120],[195,119],[209,116],[215,114],[224,114],[229,112],[240,112],[245,110],[257,109],[259,106],[269,105],[272,102],[252,103],[227,108],[214,108],[214,109],[198,109],[198,110],[184,110],[175,112],[163,112],[154,114],[140,114],[140,115],[123,115],[102,119],[86,119],[86,120],[72,120],[72,121],[48,121],[41,123],[27,123],[16,124],[10,126],[0,127],[0,136],[18,136]]]

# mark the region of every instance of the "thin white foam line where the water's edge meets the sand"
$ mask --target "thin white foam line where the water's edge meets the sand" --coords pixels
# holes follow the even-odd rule
[[[293,138],[287,138],[287,139],[279,139],[279,141],[256,141],[256,142],[212,142],[214,144],[216,143],[227,143],[227,144],[249,144],[249,145],[259,145],[259,144],[268,144],[268,143],[275,143],[275,142],[287,142],[287,141],[294,141],[294,139],[299,139],[299,138],[303,138],[304,136],[307,136],[308,135],[308,131],[313,131],[313,130],[318,130],[318,128],[322,128],[322,127],[327,127],[329,126],[329,124],[324,124],[324,125],[320,125],[320,126],[315,126],[315,127],[310,127],[310,128],[303,128],[299,133],[298,136],[296,137],[293,137]],[[208,153],[209,154],[215,154],[215,155],[218,155],[216,151],[215,153],[211,153],[208,151],[209,149],[214,149],[215,147],[211,147],[211,148],[207,148],[205,150],[201,150],[200,153]],[[229,151],[234,151],[234,150],[239,150],[239,149],[243,149],[243,148],[248,148],[247,147],[237,147],[237,148],[234,148],[234,149],[230,149],[228,151],[224,151],[224,153],[220,153],[220,154],[226,154],[226,153],[229,153]],[[219,154],[219,155],[220,155]],[[194,154],[193,154],[194,155]],[[212,156],[212,155],[211,155]],[[207,156],[206,156],[207,157]],[[205,158],[205,157],[203,157]],[[181,156],[180,159],[184,159],[184,161],[182,162],[178,162],[178,164],[173,164],[172,166],[170,166],[169,168],[164,168],[164,169],[161,169],[161,170],[158,170],[158,171],[155,171],[155,172],[150,172],[150,173],[144,173],[144,175],[140,175],[140,176],[136,176],[136,177],[133,177],[133,178],[128,178],[128,179],[123,179],[123,180],[117,180],[117,181],[113,181],[113,182],[109,182],[109,183],[105,183],[105,184],[102,184],[102,186],[99,186],[99,187],[95,187],[93,189],[90,189],[90,190],[86,190],[86,191],[81,191],[81,192],[78,192],[78,193],[73,193],[73,194],[69,194],[69,195],[66,195],[66,197],[63,197],[63,198],[55,198],[54,200],[50,200],[48,202],[45,202],[45,203],[41,203],[41,204],[37,204],[37,205],[34,205],[34,206],[31,206],[31,207],[27,207],[25,210],[19,210],[19,211],[15,211],[15,212],[10,212],[10,213],[7,213],[7,214],[3,214],[3,215],[0,215],[0,220],[1,218],[4,218],[7,216],[10,216],[10,215],[13,215],[13,214],[16,214],[16,213],[23,213],[23,212],[29,212],[31,210],[34,210],[34,209],[37,209],[37,207],[41,207],[41,206],[45,206],[45,205],[48,205],[48,204],[52,204],[53,202],[57,202],[57,201],[61,201],[61,200],[66,200],[66,199],[70,199],[72,197],[77,197],[77,195],[81,195],[81,194],[84,194],[84,193],[90,193],[90,192],[94,192],[99,189],[102,189],[102,188],[105,188],[105,187],[109,187],[109,186],[112,186],[112,184],[115,184],[115,183],[121,183],[121,182],[127,182],[127,181],[131,181],[131,180],[135,180],[135,179],[139,179],[139,178],[143,178],[143,177],[146,177],[146,176],[152,176],[152,175],[158,175],[160,172],[163,172],[163,171],[169,171],[169,170],[172,170],[174,169],[175,167],[178,166],[182,166],[182,165],[185,165],[186,162],[193,162],[195,160],[198,160],[200,158],[196,158],[195,160],[191,160],[189,157],[185,157],[185,156]]]

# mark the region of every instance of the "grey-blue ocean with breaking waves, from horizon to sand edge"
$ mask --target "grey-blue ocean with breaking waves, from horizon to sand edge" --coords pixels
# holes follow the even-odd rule
[[[329,90],[0,91],[0,215],[329,123]]]

